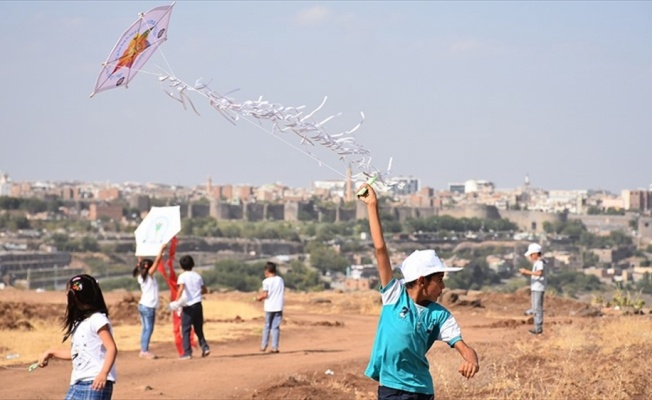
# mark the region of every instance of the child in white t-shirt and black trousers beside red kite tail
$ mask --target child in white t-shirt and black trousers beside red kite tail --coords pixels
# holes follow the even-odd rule
[[[202,348],[202,357],[211,353],[208,343],[204,338],[204,309],[201,304],[202,295],[208,293],[204,280],[201,275],[192,270],[195,266],[195,260],[191,256],[183,256],[179,260],[183,272],[179,275],[177,283],[179,284],[179,294],[177,301],[185,296],[185,305],[181,309],[181,335],[183,342],[182,360],[192,358],[192,348],[190,347],[191,329],[195,330],[199,345]]]

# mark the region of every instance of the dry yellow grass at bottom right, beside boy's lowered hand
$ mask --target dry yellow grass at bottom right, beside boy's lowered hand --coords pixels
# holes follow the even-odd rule
[[[431,352],[437,398],[652,398],[652,319],[621,316],[580,324],[555,326],[543,337],[477,346],[482,370],[469,381],[457,374],[457,352]]]

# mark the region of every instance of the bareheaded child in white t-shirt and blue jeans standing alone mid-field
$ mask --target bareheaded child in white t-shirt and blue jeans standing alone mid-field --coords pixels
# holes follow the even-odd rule
[[[281,321],[283,320],[283,293],[285,282],[276,274],[276,264],[265,264],[265,280],[263,280],[263,293],[254,297],[256,301],[265,301],[265,326],[263,328],[263,341],[260,351],[267,350],[270,331],[272,333],[272,353],[278,353],[281,335]]]

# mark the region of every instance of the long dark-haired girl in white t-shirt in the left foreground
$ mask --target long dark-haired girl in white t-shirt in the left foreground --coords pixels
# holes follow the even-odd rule
[[[102,290],[95,278],[85,274],[74,276],[66,288],[63,342],[71,338],[71,349],[48,349],[39,356],[38,365],[45,368],[51,358],[72,360],[66,400],[110,400],[118,348]]]

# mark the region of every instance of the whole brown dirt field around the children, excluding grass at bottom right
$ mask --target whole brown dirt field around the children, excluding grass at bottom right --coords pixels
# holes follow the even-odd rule
[[[170,341],[155,341],[151,351],[156,360],[138,357],[139,319],[136,299],[130,293],[105,293],[112,324],[133,326],[132,337],[116,337],[120,349],[115,399],[372,399],[377,383],[363,375],[375,334],[380,308],[379,295],[366,293],[287,293],[280,353],[261,353],[262,310],[244,311],[228,318],[206,318],[207,332],[239,325],[237,335],[211,337],[211,354],[206,358],[179,360]],[[224,307],[252,307],[251,293],[211,293],[206,300]],[[444,301],[446,300],[446,301]],[[561,324],[581,323],[577,313],[587,304],[559,298],[546,299],[546,323],[551,330]],[[523,315],[529,294],[449,294],[442,302],[454,313],[464,340],[478,349],[502,346],[528,337],[531,327]],[[448,303],[448,304],[446,304]],[[64,312],[63,293],[0,291],[0,398],[60,399],[70,379],[69,361],[52,361],[47,368],[28,373],[34,360],[7,360],[12,351],[9,333],[39,329],[43,322],[59,325]],[[256,303],[258,304],[258,303]],[[158,314],[157,333],[170,328],[164,307]],[[261,307],[262,308],[262,307]],[[239,310],[239,309],[238,309]],[[239,312],[239,311],[238,311]],[[210,314],[210,313],[209,313]],[[9,332],[9,333],[8,333]],[[226,331],[225,331],[226,332]],[[136,336],[136,337],[133,337]],[[542,339],[546,340],[545,334]],[[50,346],[60,345],[60,336]],[[20,336],[18,339],[21,340]],[[123,345],[123,343],[129,345]],[[69,344],[64,344],[67,347]],[[125,350],[127,348],[127,350]],[[441,368],[455,369],[456,352],[437,344],[451,362],[432,365],[438,384]],[[453,354],[454,353],[454,354]],[[197,352],[195,352],[197,354]],[[450,364],[450,366],[449,366]],[[442,367],[443,365],[443,367]],[[478,377],[482,379],[482,370]],[[456,383],[464,385],[459,377]],[[438,392],[440,391],[437,386]],[[439,395],[438,395],[439,397]]]

